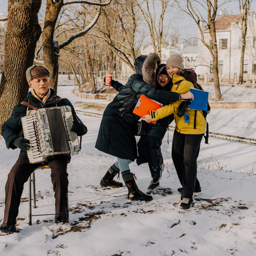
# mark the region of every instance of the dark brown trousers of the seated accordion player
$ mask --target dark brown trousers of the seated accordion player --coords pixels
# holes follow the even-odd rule
[[[55,208],[61,211],[66,207],[67,201],[67,157],[56,157],[47,162],[51,169],[53,190],[55,192]],[[15,224],[20,206],[20,198],[24,183],[32,172],[41,166],[40,163],[29,163],[27,156],[20,156],[12,167],[5,186],[6,198],[3,223]]]

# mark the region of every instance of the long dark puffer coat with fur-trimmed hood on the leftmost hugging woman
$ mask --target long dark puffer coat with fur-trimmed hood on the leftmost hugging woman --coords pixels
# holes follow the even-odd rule
[[[132,111],[140,95],[143,94],[158,102],[175,102],[179,97],[177,93],[156,90],[145,82],[153,77],[147,76],[147,74],[154,73],[154,67],[159,61],[160,59],[155,53],[148,55],[148,58],[146,55],[136,58],[136,74],[128,79],[128,82],[108,104],[103,113],[95,145],[97,149],[123,159],[134,161],[137,158],[134,131],[140,117],[133,114]],[[147,70],[146,74],[143,74],[142,70]],[[151,80],[154,84],[155,76]]]

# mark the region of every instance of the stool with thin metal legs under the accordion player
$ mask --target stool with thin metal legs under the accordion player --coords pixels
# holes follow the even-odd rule
[[[55,215],[55,213],[50,213],[50,214],[36,214],[32,215],[32,207],[31,207],[31,181],[33,183],[33,203],[34,203],[34,208],[36,208],[36,198],[35,198],[35,171],[38,169],[49,169],[49,166],[44,165],[44,166],[38,166],[32,172],[32,174],[29,177],[29,225],[32,225],[32,216],[43,216],[43,215]],[[67,211],[67,223],[69,223],[69,212],[68,212],[68,192],[67,192],[67,203],[66,203],[66,211]]]

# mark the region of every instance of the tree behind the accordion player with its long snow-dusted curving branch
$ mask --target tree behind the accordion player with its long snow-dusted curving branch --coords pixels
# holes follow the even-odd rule
[[[84,26],[80,31],[70,35],[65,41],[59,43],[57,38],[55,37],[54,31],[56,26],[56,21],[58,19],[58,15],[61,12],[61,8],[64,6],[70,6],[72,4],[87,4],[90,6],[97,6],[96,15],[91,19],[90,24]],[[105,3],[98,3],[92,1],[85,0],[76,0],[76,1],[65,1],[64,0],[47,0],[46,12],[44,18],[44,29],[42,32],[43,36],[43,53],[44,53],[44,64],[49,69],[51,73],[50,77],[50,87],[54,90],[57,90],[58,83],[58,57],[59,50],[63,47],[66,47],[76,38],[79,38],[83,35],[86,35],[90,29],[93,28],[97,20],[99,19],[99,15],[102,11],[102,6],[107,6],[111,3],[111,0],[106,0]],[[91,10],[90,10],[91,11]]]

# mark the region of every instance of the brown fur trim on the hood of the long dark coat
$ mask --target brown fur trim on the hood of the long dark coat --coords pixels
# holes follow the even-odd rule
[[[150,84],[154,88],[156,87],[156,75],[154,74],[154,68],[160,64],[160,57],[156,52],[152,52],[145,59],[142,66],[143,81]]]

